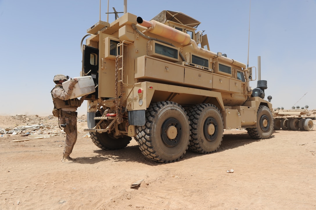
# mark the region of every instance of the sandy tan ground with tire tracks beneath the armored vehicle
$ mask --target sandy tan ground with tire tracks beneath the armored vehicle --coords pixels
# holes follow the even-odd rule
[[[216,153],[170,164],[146,159],[134,140],[101,150],[78,127],[73,164],[61,162],[63,134],[0,137],[0,209],[316,209],[316,126],[261,141],[226,130]]]

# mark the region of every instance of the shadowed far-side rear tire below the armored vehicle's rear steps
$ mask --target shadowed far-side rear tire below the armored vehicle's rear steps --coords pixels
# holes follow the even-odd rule
[[[129,136],[115,138],[108,133],[95,132],[90,132],[90,137],[97,147],[104,150],[121,149],[123,147],[126,147],[132,139]]]

